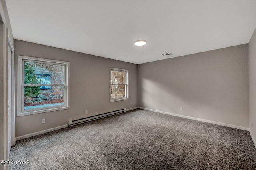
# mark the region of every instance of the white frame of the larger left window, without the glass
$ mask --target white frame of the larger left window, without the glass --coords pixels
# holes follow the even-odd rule
[[[66,84],[50,84],[49,86],[64,86],[64,104],[56,106],[41,107],[36,109],[24,110],[24,61],[35,61],[47,64],[64,65],[64,80]],[[69,109],[69,62],[50,60],[44,58],[18,56],[17,64],[17,116],[26,116],[30,114],[38,114],[44,112],[52,112],[57,110]],[[30,85],[26,85],[30,86]],[[42,86],[42,84],[33,84],[31,86]]]

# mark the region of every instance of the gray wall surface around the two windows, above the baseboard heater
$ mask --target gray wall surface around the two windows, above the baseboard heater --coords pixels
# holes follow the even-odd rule
[[[16,117],[16,136],[62,126],[73,118],[138,105],[136,64],[20,40],[14,40],[14,50],[16,68],[17,55],[70,62],[70,109]],[[129,100],[109,101],[110,67],[129,70]],[[46,119],[45,124],[42,124],[43,118]]]

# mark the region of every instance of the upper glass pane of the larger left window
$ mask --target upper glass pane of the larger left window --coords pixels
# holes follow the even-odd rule
[[[64,65],[24,62],[24,84],[65,84]],[[41,89],[50,89],[41,86]]]

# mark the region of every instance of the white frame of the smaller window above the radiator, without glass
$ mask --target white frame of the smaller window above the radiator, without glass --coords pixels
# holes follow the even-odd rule
[[[122,71],[122,72],[126,72],[125,74],[125,84],[111,84],[111,71],[114,70],[114,71]],[[110,88],[109,88],[109,98],[110,98],[110,102],[117,102],[117,101],[121,101],[121,100],[128,100],[129,99],[129,95],[128,95],[128,75],[129,75],[129,70],[127,69],[121,69],[121,68],[110,68],[109,69],[109,81],[110,81]],[[111,98],[111,85],[126,85],[126,88],[125,88],[125,97],[122,97],[122,98],[116,98],[116,99],[113,99]]]

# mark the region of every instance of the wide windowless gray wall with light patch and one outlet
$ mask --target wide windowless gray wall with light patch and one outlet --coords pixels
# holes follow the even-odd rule
[[[248,103],[248,44],[138,65],[140,107],[248,127]]]

